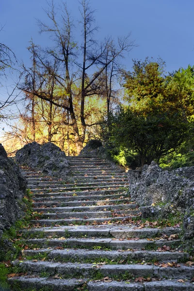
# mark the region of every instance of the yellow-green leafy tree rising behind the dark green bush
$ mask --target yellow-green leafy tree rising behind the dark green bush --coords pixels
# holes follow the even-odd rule
[[[148,58],[143,62],[133,60],[133,71],[124,74],[125,100],[129,102],[132,111],[144,115],[161,111],[167,86],[163,74],[164,66],[161,59],[157,62]]]

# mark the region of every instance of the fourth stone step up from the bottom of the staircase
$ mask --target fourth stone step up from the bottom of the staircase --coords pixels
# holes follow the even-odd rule
[[[158,247],[162,247],[164,245],[171,247],[178,247],[181,244],[181,240],[175,241],[147,241],[147,240],[117,240],[112,238],[84,238],[84,239],[29,239],[26,240],[27,244],[34,244],[41,248],[47,247],[59,247],[62,246],[64,248],[108,248],[113,250],[156,250]]]

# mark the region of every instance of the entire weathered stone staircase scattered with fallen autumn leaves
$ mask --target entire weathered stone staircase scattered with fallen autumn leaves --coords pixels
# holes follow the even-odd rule
[[[24,170],[33,193],[30,229],[21,231],[21,275],[12,290],[192,291],[180,228],[143,224],[124,170],[94,157],[67,157],[73,175]],[[154,225],[153,225],[154,226]]]

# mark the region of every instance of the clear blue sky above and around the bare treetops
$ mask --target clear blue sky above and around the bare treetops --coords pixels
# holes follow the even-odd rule
[[[59,3],[60,0],[55,0]],[[79,19],[77,0],[67,0],[75,21]],[[160,56],[167,71],[194,64],[194,1],[193,0],[91,0],[100,27],[98,38],[125,35],[131,32],[139,47],[125,60],[131,69],[131,59]],[[19,60],[28,64],[27,47],[31,37],[36,44],[47,45],[46,35],[38,34],[36,18],[47,21],[45,0],[1,0],[0,42],[9,46]],[[79,33],[76,33],[79,41]]]

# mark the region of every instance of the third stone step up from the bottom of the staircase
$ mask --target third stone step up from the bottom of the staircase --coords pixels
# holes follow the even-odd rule
[[[38,257],[44,255],[47,259],[63,261],[63,262],[95,262],[101,263],[107,260],[114,264],[126,263],[147,263],[147,262],[182,262],[189,259],[189,254],[179,252],[157,252],[157,251],[103,251],[103,250],[87,250],[87,249],[39,249],[39,250],[24,250],[24,257]]]

